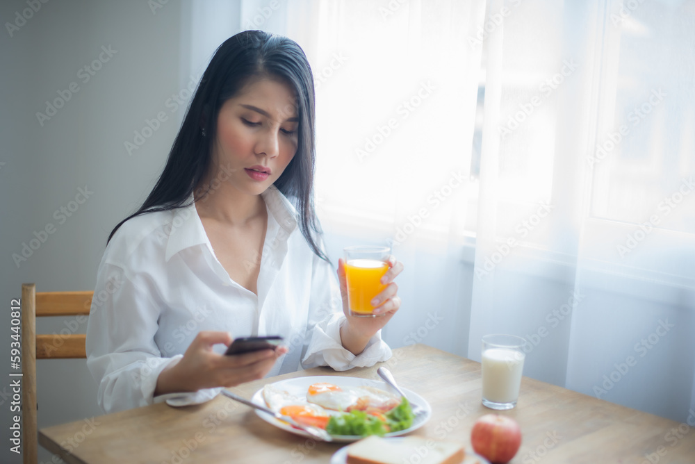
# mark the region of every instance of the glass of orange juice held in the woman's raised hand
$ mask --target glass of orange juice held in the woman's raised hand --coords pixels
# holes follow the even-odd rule
[[[386,288],[381,279],[390,267],[391,248],[347,247],[344,251],[350,315],[375,317],[371,301]]]

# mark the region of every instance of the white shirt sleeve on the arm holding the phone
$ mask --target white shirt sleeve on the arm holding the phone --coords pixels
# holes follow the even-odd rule
[[[143,281],[108,263],[97,273],[87,324],[87,367],[99,384],[97,401],[106,413],[156,402],[159,374],[183,357],[161,356],[154,342],[160,306]],[[207,390],[181,395],[193,404],[216,394]]]

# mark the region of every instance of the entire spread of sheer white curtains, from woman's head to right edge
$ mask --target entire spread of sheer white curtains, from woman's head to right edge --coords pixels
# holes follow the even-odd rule
[[[482,335],[514,333],[528,340],[526,375],[685,420],[694,3],[235,5],[226,28],[198,13],[192,30],[261,28],[306,51],[329,253],[389,242],[407,266],[384,330],[393,347],[480,361]]]

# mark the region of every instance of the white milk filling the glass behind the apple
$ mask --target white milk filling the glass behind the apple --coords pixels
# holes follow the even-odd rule
[[[525,355],[521,351],[488,348],[482,353],[482,397],[494,403],[513,403],[519,396]]]

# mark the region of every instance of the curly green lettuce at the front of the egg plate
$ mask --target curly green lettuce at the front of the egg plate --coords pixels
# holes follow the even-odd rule
[[[326,431],[331,435],[369,436],[409,429],[415,415],[408,400],[403,397],[398,406],[385,414],[350,411],[334,415],[328,421]]]

